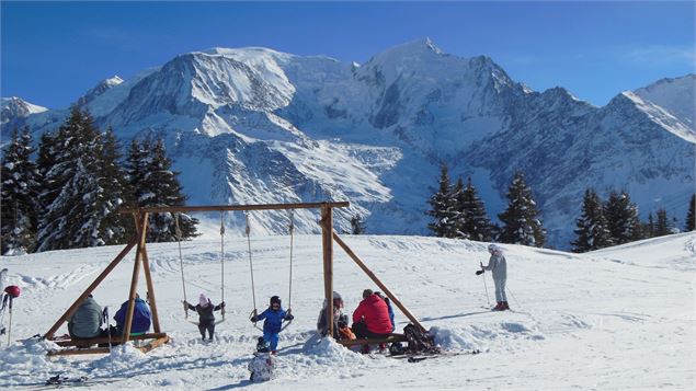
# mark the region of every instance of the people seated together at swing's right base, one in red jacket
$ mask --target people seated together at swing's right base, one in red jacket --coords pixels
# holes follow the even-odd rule
[[[333,337],[335,340],[386,338],[396,329],[393,309],[389,298],[372,289],[363,290],[363,300],[353,311],[353,324],[349,327],[349,317],[343,313],[343,298],[333,292]],[[326,300],[324,300],[326,301]],[[327,303],[324,302],[317,330],[321,335],[329,334]]]

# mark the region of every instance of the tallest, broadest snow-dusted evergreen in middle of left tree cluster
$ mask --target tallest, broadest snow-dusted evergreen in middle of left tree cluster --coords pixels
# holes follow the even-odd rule
[[[38,251],[123,242],[121,217],[115,214],[123,203],[118,183],[124,177],[116,166],[113,135],[100,134],[90,114],[75,106],[58,133],[42,141],[46,191],[41,198],[45,209],[38,225]]]

